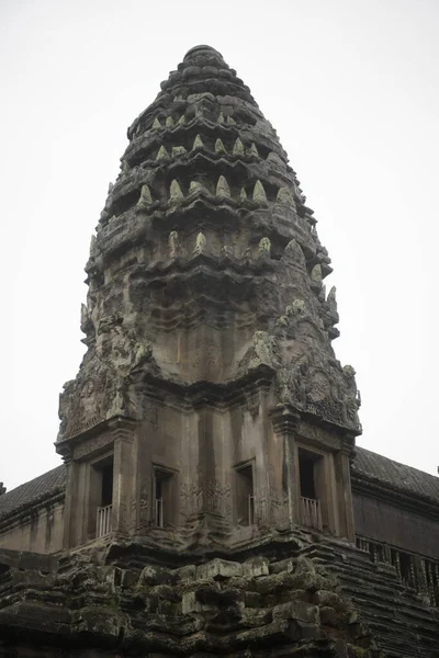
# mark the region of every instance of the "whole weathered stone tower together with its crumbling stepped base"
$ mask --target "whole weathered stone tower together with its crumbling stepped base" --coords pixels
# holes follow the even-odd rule
[[[0,552],[0,658],[434,658],[438,565],[353,546],[360,395],[275,131],[198,46],[128,139],[60,396],[66,495],[35,508],[48,536],[63,498],[65,551]]]

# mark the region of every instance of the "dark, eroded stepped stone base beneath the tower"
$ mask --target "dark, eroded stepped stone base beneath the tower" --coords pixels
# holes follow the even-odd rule
[[[21,579],[13,579],[16,567],[7,563],[14,558],[4,553],[0,557],[0,656],[1,651],[4,656],[25,655],[26,642],[33,638],[34,649],[44,647],[46,656],[68,644],[71,656],[86,655],[81,651],[93,647],[94,651],[133,656],[250,650],[272,658],[285,651],[381,658],[397,655],[396,629],[403,623],[408,624],[405,637],[412,648],[401,656],[437,655],[430,642],[437,616],[417,601],[417,621],[408,622],[414,600],[396,580],[398,606],[382,627],[371,598],[374,565],[353,547],[345,555],[322,543],[308,545],[303,554],[290,549],[289,560],[275,563],[275,572],[269,569],[268,576],[255,575],[257,565],[274,565],[269,545],[267,551],[267,556],[257,559],[214,558],[175,568],[151,563],[142,567],[148,557],[140,558],[135,545],[127,545],[122,563],[113,564],[104,553],[85,548],[59,560],[27,556]],[[314,558],[306,557],[312,554]],[[138,566],[126,569],[123,565],[135,555]],[[362,585],[357,604],[356,597],[352,603],[346,592],[352,588],[352,565],[358,569],[360,563]],[[42,566],[50,572],[42,574]],[[297,575],[308,583],[306,590],[295,589]],[[382,648],[373,637],[383,643]],[[4,653],[16,649],[22,653]]]

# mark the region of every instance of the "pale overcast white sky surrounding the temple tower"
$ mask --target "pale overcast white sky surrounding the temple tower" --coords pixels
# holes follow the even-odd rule
[[[126,127],[196,44],[277,128],[335,268],[359,444],[436,473],[438,0],[2,0],[1,445],[12,488],[56,466],[83,345],[83,266]]]

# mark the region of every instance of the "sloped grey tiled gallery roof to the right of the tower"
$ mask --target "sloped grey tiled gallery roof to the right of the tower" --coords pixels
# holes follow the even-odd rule
[[[353,473],[363,474],[382,485],[390,485],[394,489],[428,498],[439,504],[439,477],[394,462],[378,453],[357,447],[353,461]]]

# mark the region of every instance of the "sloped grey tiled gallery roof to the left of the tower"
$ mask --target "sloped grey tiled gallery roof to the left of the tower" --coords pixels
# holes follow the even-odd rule
[[[66,466],[61,464],[29,483],[0,496],[0,520],[21,508],[44,500],[66,487]]]

